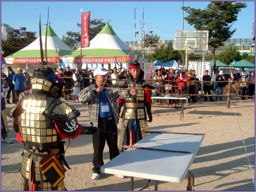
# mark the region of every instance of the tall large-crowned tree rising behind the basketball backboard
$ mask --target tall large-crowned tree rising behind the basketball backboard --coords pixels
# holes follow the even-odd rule
[[[182,7],[188,13],[188,16],[184,18],[188,24],[193,25],[196,30],[209,31],[208,47],[212,52],[214,71],[216,68],[215,49],[223,46],[223,42],[237,30],[231,27],[234,21],[237,21],[237,14],[241,8],[245,7],[246,3],[235,3],[235,1],[211,1],[204,10]]]

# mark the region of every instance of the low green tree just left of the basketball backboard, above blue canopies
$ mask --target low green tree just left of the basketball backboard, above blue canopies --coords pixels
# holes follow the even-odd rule
[[[152,61],[160,60],[163,63],[167,63],[169,62],[169,54],[170,61],[178,61],[181,58],[179,51],[173,49],[172,41],[170,41],[166,46],[161,45],[160,48],[156,48],[155,52],[150,55],[149,59],[152,59]]]

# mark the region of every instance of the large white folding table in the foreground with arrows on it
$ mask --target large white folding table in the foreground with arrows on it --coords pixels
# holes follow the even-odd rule
[[[173,131],[161,132],[165,133],[150,133],[133,146],[191,153],[127,149],[101,166],[101,172],[131,177],[132,191],[133,177],[155,180],[155,190],[157,181],[182,182],[204,139],[204,133],[187,135],[168,133]]]

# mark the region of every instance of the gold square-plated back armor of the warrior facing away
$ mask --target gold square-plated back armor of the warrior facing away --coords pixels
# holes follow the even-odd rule
[[[42,112],[51,105],[52,100],[47,96],[33,96],[33,94],[23,99],[21,105],[25,111],[18,117],[18,124],[22,140],[28,147],[36,146],[47,151],[47,148],[58,146],[57,141],[60,139],[54,123],[42,115]]]

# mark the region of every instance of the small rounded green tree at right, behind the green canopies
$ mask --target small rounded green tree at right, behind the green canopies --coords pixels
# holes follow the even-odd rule
[[[217,56],[218,60],[225,64],[230,64],[233,61],[240,61],[242,57],[235,45],[226,46],[223,51]]]

